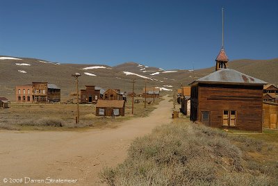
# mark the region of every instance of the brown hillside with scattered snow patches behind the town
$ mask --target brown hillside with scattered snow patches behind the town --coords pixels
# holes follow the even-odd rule
[[[268,83],[278,84],[278,58],[272,60],[234,60],[228,63],[229,68],[260,78]],[[197,69],[174,69],[165,71],[158,67],[147,67],[136,62],[125,62],[122,65],[59,64],[34,58],[17,58],[0,56],[0,96],[11,101],[15,99],[15,86],[32,81],[47,81],[61,88],[62,99],[67,99],[74,91],[74,78],[71,74],[79,73],[79,87],[97,85],[104,89],[120,88],[130,92],[131,81],[136,79],[136,93],[142,92],[145,80],[149,86],[172,89],[181,83],[186,85],[197,78],[214,71],[214,67]]]

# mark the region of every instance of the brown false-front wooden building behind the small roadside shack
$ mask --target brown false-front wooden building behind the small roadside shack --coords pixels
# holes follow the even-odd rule
[[[85,90],[80,90],[81,103],[97,103],[103,98],[104,90],[95,85],[85,85]]]

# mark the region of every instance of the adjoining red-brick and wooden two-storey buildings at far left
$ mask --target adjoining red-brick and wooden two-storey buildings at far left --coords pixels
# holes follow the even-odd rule
[[[47,82],[33,82],[15,87],[18,103],[52,103],[60,101],[60,88]]]

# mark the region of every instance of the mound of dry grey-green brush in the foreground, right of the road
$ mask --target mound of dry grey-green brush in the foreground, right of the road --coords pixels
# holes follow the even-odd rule
[[[178,120],[135,140],[124,163],[100,177],[108,185],[275,184],[272,174],[249,165],[227,133]]]

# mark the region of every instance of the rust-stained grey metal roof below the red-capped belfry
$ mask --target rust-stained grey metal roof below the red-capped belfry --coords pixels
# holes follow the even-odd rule
[[[234,69],[220,69],[193,83],[226,83],[226,84],[267,84],[258,78],[248,76]],[[191,84],[193,84],[191,83]]]

